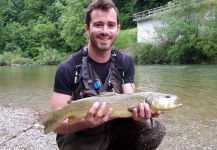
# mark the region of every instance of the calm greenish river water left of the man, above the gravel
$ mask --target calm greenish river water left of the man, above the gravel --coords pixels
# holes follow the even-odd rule
[[[0,104],[49,109],[56,68],[0,67]]]

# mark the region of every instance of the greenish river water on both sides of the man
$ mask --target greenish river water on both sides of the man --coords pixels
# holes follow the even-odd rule
[[[0,67],[0,105],[49,110],[55,71],[56,66]],[[159,149],[217,147],[217,65],[138,65],[135,82],[137,91],[182,100],[181,108],[159,118],[167,127]]]

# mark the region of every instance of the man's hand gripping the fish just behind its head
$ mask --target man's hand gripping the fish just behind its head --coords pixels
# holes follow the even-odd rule
[[[147,103],[140,103],[137,108],[133,109],[133,119],[135,121],[146,121],[159,115],[160,111],[153,113]]]

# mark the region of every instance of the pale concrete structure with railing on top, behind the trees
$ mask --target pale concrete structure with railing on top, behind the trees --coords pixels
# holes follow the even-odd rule
[[[193,0],[192,3],[199,4],[202,1]],[[137,41],[155,43],[157,38],[155,28],[162,26],[162,22],[155,19],[155,16],[171,9],[177,9],[180,5],[182,5],[180,2],[168,2],[167,5],[133,14],[133,21],[137,22]]]

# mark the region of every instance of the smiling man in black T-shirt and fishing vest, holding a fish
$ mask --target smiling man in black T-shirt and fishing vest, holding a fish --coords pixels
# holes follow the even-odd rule
[[[101,91],[134,92],[133,60],[112,49],[120,30],[119,13],[111,0],[93,1],[86,12],[88,44],[62,63],[56,73],[52,109],[68,101],[95,96]],[[143,150],[155,149],[165,135],[164,126],[149,119],[149,105],[138,104],[133,117],[112,118],[112,108],[106,115],[106,103],[94,103],[85,118],[69,124],[65,120],[56,130],[57,144],[62,150]]]

